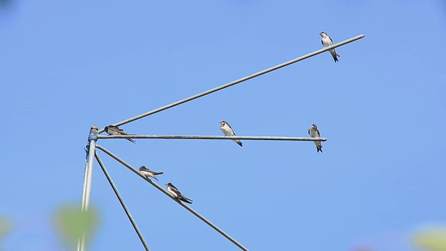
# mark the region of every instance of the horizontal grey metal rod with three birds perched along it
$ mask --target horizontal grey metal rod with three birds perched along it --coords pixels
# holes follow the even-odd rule
[[[325,142],[321,137],[277,137],[277,136],[213,136],[213,135],[99,135],[98,139],[248,139]]]

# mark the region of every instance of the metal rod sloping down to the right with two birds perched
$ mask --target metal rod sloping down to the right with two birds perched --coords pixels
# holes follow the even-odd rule
[[[207,225],[209,225],[210,227],[212,227],[213,229],[215,229],[215,231],[219,232],[220,234],[222,234],[222,236],[224,236],[225,238],[227,238],[229,241],[231,241],[232,243],[234,243],[235,245],[238,246],[238,248],[240,248],[241,250],[244,251],[248,251],[247,248],[245,248],[242,244],[238,243],[238,241],[236,241],[234,238],[232,238],[231,236],[229,236],[229,234],[226,234],[222,229],[218,228],[217,226],[213,225],[212,222],[210,222],[208,219],[204,218],[203,216],[201,216],[199,213],[197,213],[196,211],[194,211],[194,209],[190,208],[189,206],[186,206],[185,204],[181,203],[180,201],[178,201],[178,199],[175,199],[174,196],[172,196],[169,192],[167,192],[167,190],[164,190],[162,187],[160,187],[160,185],[158,185],[157,183],[151,181],[151,179],[146,178],[146,176],[140,174],[137,169],[134,169],[131,165],[129,165],[127,162],[125,162],[124,160],[122,160],[121,158],[119,158],[118,156],[114,155],[113,153],[111,153],[110,151],[108,151],[107,149],[103,148],[102,146],[96,146],[98,149],[100,149],[101,151],[103,151],[104,153],[107,153],[110,157],[114,158],[116,161],[120,162],[122,165],[124,165],[125,167],[127,167],[128,169],[130,169],[130,171],[134,172],[135,174],[137,174],[138,176],[140,176],[141,178],[144,178],[145,181],[147,181],[148,183],[150,183],[151,185],[153,185],[155,188],[157,188],[157,190],[160,190],[161,192],[164,193],[164,195],[169,196],[171,199],[173,199],[174,201],[176,201],[176,203],[180,204],[180,206],[183,206],[183,208],[186,208],[187,211],[190,211],[190,213],[192,213],[193,215],[197,216],[200,220],[202,220],[203,222],[205,222]]]

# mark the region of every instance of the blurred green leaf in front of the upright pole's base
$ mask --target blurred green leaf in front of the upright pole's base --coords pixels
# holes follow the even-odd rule
[[[77,242],[83,235],[87,247],[98,229],[99,214],[93,207],[82,212],[79,204],[65,204],[56,209],[54,225],[69,250],[77,247]]]

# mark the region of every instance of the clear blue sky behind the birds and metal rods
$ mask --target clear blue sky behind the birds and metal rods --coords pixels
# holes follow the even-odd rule
[[[164,172],[192,208],[249,250],[412,250],[446,222],[444,1],[6,1],[0,10],[5,250],[61,250],[52,214],[80,201],[84,145],[100,128],[340,42],[324,53],[127,124],[147,135],[328,141],[102,139]],[[100,153],[151,250],[238,250]],[[95,164],[91,250],[142,250]]]

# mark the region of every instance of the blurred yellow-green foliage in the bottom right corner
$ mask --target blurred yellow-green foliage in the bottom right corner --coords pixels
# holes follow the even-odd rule
[[[446,251],[446,227],[430,227],[418,231],[413,242],[420,250]]]

